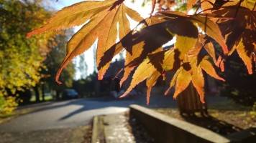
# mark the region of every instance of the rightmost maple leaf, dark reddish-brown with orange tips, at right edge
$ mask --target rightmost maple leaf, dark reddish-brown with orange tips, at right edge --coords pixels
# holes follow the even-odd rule
[[[237,53],[247,66],[248,73],[252,74],[252,54],[256,46],[256,11],[242,6],[237,11],[237,6],[227,6],[214,13],[229,17],[236,14],[234,19],[221,19],[219,27],[225,35],[229,55],[237,49]]]

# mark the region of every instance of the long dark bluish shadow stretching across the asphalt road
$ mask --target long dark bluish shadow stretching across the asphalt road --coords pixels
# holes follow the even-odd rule
[[[88,110],[93,109],[104,109],[108,107],[125,107],[129,108],[129,105],[131,104],[139,104],[144,107],[148,108],[164,108],[164,107],[176,107],[177,104],[173,97],[152,97],[150,98],[150,104],[146,104],[146,98],[145,97],[129,97],[129,98],[123,98],[123,99],[115,99],[112,97],[98,97],[98,98],[87,98],[87,99],[72,99],[68,101],[63,102],[55,102],[55,104],[52,104],[50,107],[46,107],[43,109],[37,109],[31,113],[35,112],[42,112],[46,110],[52,110],[52,109],[58,109],[61,107],[68,107],[73,105],[80,105],[82,106],[79,109],[76,109],[73,112],[70,112],[69,114],[65,115],[64,117],[61,117],[59,120],[68,119],[69,117],[72,117],[76,114],[79,114],[81,112],[85,112]]]

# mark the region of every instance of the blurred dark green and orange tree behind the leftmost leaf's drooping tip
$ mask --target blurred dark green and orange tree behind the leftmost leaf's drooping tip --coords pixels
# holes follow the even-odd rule
[[[65,47],[71,35],[73,35],[73,29],[68,29],[65,31],[60,31],[54,39],[50,40],[48,42],[50,52],[47,54],[47,58],[43,62],[46,68],[42,69],[41,72],[41,74],[45,75],[44,78],[41,79],[41,84],[47,89],[54,90],[56,93],[56,99],[60,99],[60,93],[63,91],[63,89],[70,88],[73,84],[75,65],[72,62],[65,67],[60,76],[60,80],[63,81],[63,84],[58,84],[55,82],[55,75],[60,64],[65,58]],[[42,88],[42,92],[45,87]],[[44,95],[42,97],[44,97]]]

